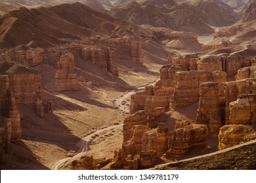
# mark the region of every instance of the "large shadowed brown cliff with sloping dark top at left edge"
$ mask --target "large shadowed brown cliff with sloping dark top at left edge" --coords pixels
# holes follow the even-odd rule
[[[36,109],[43,117],[47,99],[41,90],[41,75],[26,65],[16,62],[0,62],[1,75],[9,75],[9,90],[14,93],[16,103]]]

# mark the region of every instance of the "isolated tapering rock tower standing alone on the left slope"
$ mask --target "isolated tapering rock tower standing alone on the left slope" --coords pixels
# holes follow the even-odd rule
[[[79,80],[74,72],[73,54],[65,54],[60,57],[55,79],[55,90],[57,92],[79,89]]]

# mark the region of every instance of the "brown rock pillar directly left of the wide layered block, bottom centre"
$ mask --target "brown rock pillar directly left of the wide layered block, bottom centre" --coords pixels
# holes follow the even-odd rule
[[[157,128],[146,131],[142,137],[142,151],[156,151],[156,156],[162,156],[168,150],[168,129],[163,123]]]

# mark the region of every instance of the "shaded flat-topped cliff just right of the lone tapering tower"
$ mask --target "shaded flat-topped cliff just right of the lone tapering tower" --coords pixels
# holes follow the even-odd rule
[[[114,75],[118,75],[117,67],[113,65],[113,52],[114,48],[106,46],[86,46],[83,48],[81,55],[83,59],[95,63],[98,67],[102,67]]]

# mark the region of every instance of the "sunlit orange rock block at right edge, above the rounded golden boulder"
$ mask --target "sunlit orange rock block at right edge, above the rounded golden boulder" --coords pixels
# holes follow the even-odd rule
[[[256,94],[242,94],[229,104],[230,124],[256,124]]]

